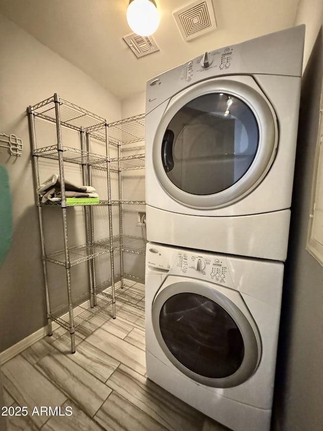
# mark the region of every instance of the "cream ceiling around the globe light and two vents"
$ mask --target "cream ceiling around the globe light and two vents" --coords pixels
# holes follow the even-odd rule
[[[123,36],[129,0],[0,0],[7,16],[120,99],[144,91],[146,80],[205,51],[292,27],[299,0],[212,0],[218,28],[189,42],[172,12],[191,0],[156,0],[159,52],[137,59]]]

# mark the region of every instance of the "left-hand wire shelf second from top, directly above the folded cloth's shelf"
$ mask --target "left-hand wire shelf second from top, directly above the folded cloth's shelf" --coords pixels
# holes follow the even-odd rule
[[[96,165],[98,163],[106,163],[108,161],[106,156],[89,153],[88,151],[79,150],[72,147],[63,146],[62,153],[64,162],[76,163],[78,165]],[[47,159],[59,159],[59,152],[56,145],[37,148],[32,152],[32,154],[33,156],[45,157]]]

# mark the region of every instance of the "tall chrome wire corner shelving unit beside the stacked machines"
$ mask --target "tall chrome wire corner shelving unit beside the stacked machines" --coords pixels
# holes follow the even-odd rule
[[[41,237],[48,334],[52,334],[52,321],[57,322],[60,326],[69,330],[71,336],[71,352],[74,353],[76,327],[81,328],[82,322],[91,319],[97,313],[104,312],[107,307],[112,307],[113,318],[116,317],[116,286],[118,289],[118,297],[121,297],[121,294],[129,288],[129,286],[127,286],[127,281],[124,280],[123,252],[134,254],[145,253],[146,241],[144,238],[124,235],[122,220],[123,205],[145,205],[143,200],[127,201],[122,199],[122,171],[143,169],[144,154],[122,157],[121,152],[122,145],[143,141],[145,116],[142,114],[108,124],[104,118],[62,99],[57,93],[36,105],[29,106],[28,116],[36,187],[40,185],[39,158],[57,160],[61,180],[61,201],[59,202],[47,201],[43,204],[35,192]],[[37,146],[37,119],[55,123],[55,144]],[[66,146],[65,142],[63,143],[62,129],[64,128],[74,129],[78,132],[80,148]],[[92,139],[104,143],[105,154],[100,155],[91,151]],[[118,150],[117,158],[110,157],[111,147]],[[68,202],[65,196],[64,181],[66,163],[80,165],[83,184],[87,185],[92,185],[92,169],[99,169],[106,172],[108,199],[92,203],[84,201],[80,201],[80,203]],[[119,196],[117,200],[112,200],[111,172],[118,173]],[[103,240],[96,240],[94,235],[93,208],[97,205],[107,206],[108,208],[109,234]],[[119,205],[120,233],[118,235],[114,235],[112,229],[112,206],[114,205]],[[45,249],[45,229],[43,225],[43,208],[46,206],[60,207],[64,241],[64,248],[62,250],[48,254]],[[67,211],[69,207],[77,206],[82,206],[84,209],[86,244],[71,247],[69,245]],[[117,283],[115,283],[114,250],[120,251],[121,281]],[[95,258],[105,254],[110,255],[111,278],[106,280],[103,284],[96,285]],[[89,290],[81,297],[74,298],[72,293],[71,267],[82,262],[87,262]],[[63,304],[55,310],[50,308],[47,263],[64,266],[66,271],[67,304]]]

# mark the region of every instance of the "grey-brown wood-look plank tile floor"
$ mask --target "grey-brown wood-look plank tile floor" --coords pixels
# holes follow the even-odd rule
[[[147,379],[144,285],[125,280],[123,290],[116,288],[117,318],[105,309],[84,321],[76,353],[58,328],[2,366],[6,405],[28,411],[8,417],[8,431],[228,429]],[[40,415],[41,406],[60,407],[61,415]]]

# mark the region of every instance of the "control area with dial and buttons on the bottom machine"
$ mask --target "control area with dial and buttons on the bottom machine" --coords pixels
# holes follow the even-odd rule
[[[227,260],[221,256],[179,252],[175,266],[181,274],[221,284],[226,284],[230,278]]]

